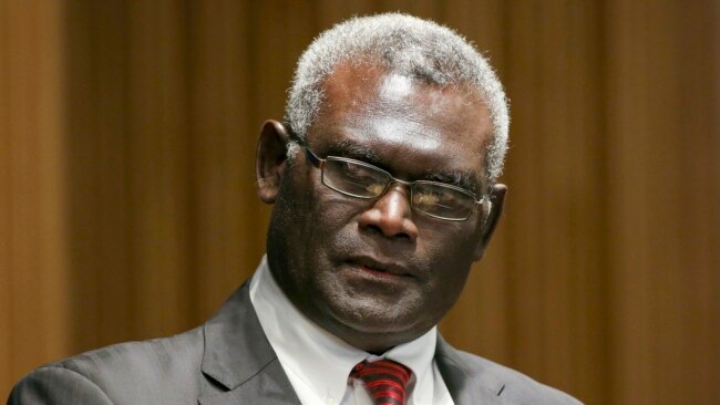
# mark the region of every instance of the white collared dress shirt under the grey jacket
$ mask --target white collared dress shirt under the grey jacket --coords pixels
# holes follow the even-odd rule
[[[363,360],[390,359],[412,371],[408,405],[453,404],[433,356],[436,328],[382,356],[356,349],[306,318],[280,290],[264,257],[250,281],[263,331],[304,405],[372,405],[362,381],[349,378]]]

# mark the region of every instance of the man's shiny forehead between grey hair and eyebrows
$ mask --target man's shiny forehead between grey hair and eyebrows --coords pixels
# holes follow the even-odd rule
[[[492,134],[488,111],[470,86],[439,86],[371,64],[340,64],[323,83],[309,142],[372,149],[438,170],[479,174]],[[411,160],[411,162],[409,162]]]

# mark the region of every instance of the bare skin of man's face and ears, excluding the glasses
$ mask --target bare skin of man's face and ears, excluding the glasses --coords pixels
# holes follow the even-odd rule
[[[338,66],[325,90],[307,136],[320,157],[361,159],[403,180],[465,178],[479,196],[486,187],[482,156],[492,126],[474,91],[369,65]],[[493,186],[492,207],[466,221],[443,221],[413,211],[400,184],[376,200],[326,187],[302,153],[287,160],[288,142],[282,124],[268,121],[256,163],[258,195],[275,205],[267,252],[282,291],[310,320],[367,352],[428,332],[482,258],[506,187]]]

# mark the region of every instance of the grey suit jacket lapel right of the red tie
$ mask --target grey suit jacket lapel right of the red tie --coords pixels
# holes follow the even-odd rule
[[[455,405],[506,404],[503,383],[487,370],[470,367],[455,349],[438,334],[435,363]]]

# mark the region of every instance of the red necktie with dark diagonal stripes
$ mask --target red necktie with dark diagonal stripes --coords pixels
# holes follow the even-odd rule
[[[392,360],[358,363],[350,376],[360,378],[376,405],[405,405],[405,386],[411,371]]]

